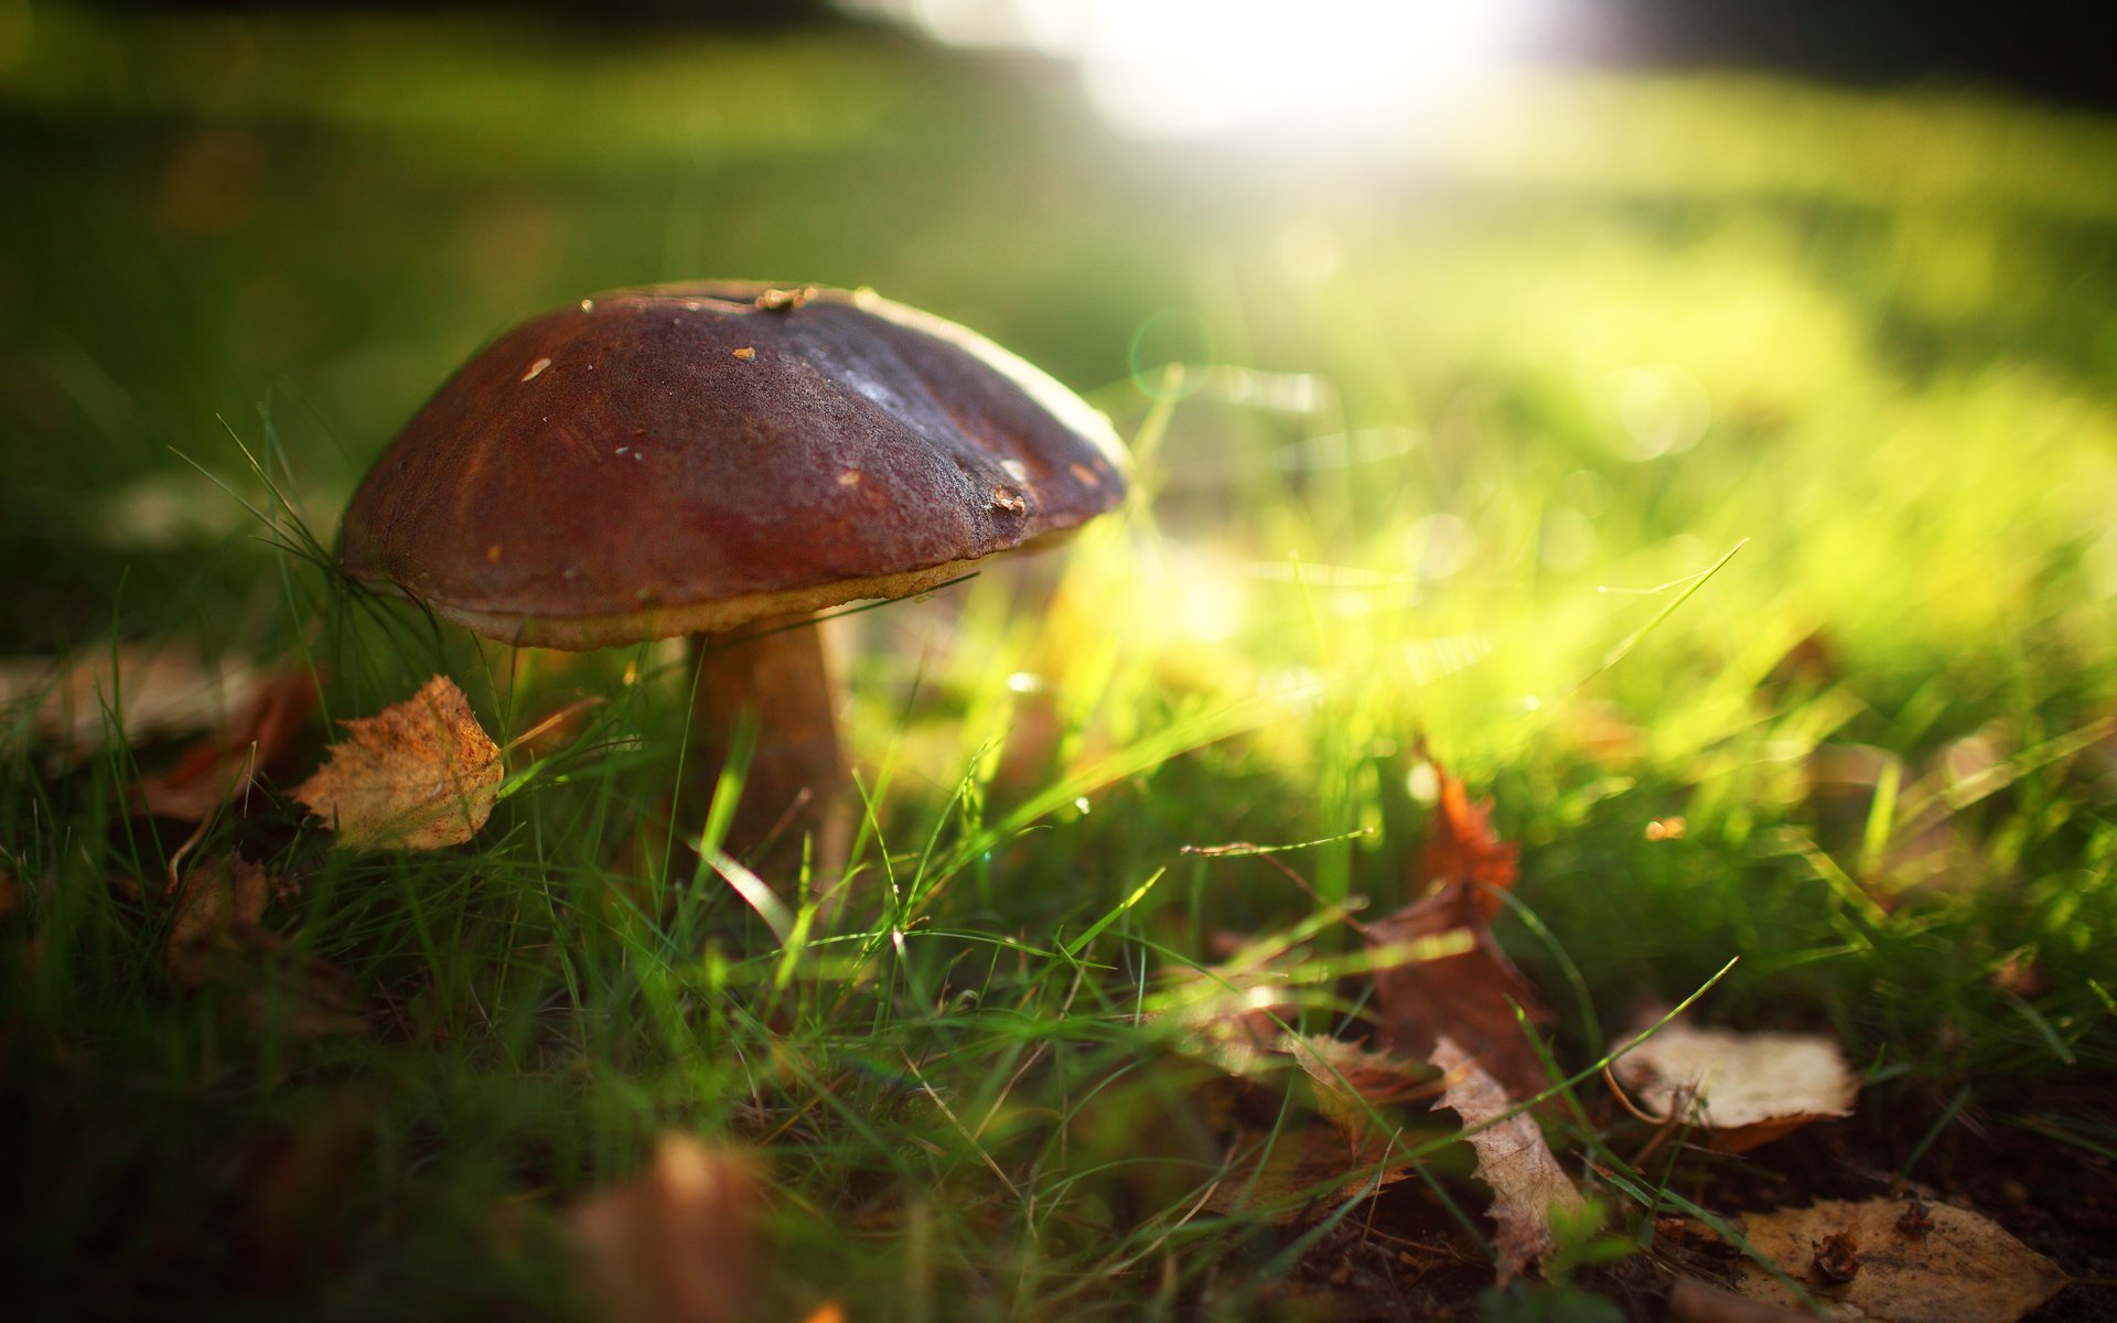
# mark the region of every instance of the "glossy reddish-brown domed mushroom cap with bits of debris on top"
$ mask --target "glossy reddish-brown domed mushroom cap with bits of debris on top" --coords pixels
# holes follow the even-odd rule
[[[603,648],[934,586],[1116,506],[1103,415],[870,290],[584,298],[464,364],[345,512],[347,574]]]

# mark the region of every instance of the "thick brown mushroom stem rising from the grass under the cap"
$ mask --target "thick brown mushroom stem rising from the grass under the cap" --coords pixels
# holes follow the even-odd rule
[[[728,633],[690,637],[699,669],[692,690],[692,785],[711,796],[743,713],[758,718],[758,745],[722,849],[768,881],[792,881],[813,838],[817,887],[836,885],[851,832],[851,777],[838,749],[838,684],[815,624],[758,620]]]

